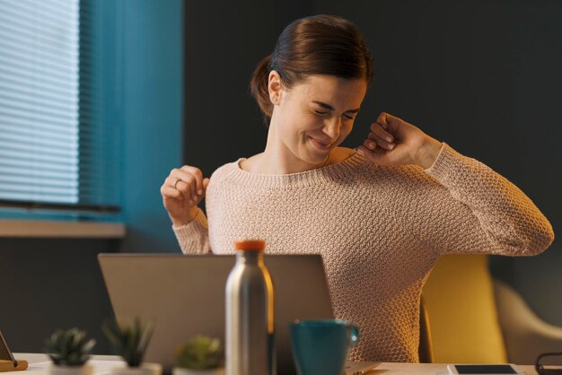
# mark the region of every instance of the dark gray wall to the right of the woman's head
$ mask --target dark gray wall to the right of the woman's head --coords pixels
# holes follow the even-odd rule
[[[373,49],[377,79],[349,144],[382,110],[510,179],[562,229],[562,3],[317,1]],[[562,326],[562,252],[493,257],[492,270],[541,318]]]

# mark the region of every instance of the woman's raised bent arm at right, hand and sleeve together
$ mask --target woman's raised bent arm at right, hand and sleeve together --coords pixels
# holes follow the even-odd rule
[[[534,255],[554,240],[521,189],[400,118],[383,112],[358,151],[379,165],[408,165],[397,175],[403,198],[396,208],[422,246],[441,254]]]

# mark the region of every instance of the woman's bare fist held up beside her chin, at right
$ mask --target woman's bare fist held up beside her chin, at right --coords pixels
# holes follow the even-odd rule
[[[371,124],[371,132],[357,150],[379,165],[417,164],[427,169],[434,163],[441,146],[441,142],[426,135],[417,126],[382,112]]]

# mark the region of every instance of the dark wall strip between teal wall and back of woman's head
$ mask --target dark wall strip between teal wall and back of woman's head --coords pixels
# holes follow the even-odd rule
[[[209,177],[224,162],[263,150],[268,132],[250,97],[250,76],[285,26],[312,13],[312,2],[188,1],[185,7],[184,161]]]

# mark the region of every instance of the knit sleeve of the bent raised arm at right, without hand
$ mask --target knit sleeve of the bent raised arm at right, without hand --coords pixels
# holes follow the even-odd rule
[[[554,232],[539,208],[484,163],[442,144],[424,170],[438,184],[419,196],[417,236],[440,254],[531,256],[547,249]]]

